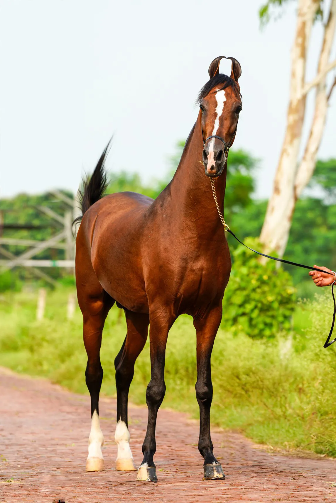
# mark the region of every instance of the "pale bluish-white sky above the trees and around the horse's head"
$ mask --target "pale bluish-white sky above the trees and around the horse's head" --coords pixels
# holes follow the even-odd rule
[[[262,3],[0,0],[0,196],[76,192],[112,135],[108,170],[137,172],[146,183],[164,177],[220,55],[242,67],[234,148],[259,159],[256,197],[270,196],[286,124],[296,2],[260,30]],[[308,80],[321,34],[316,24]],[[221,72],[230,68],[221,62]],[[336,92],[320,158],[336,157],[335,111]]]

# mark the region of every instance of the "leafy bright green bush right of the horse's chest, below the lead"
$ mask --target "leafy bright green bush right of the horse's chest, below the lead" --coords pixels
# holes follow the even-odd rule
[[[261,251],[257,239],[244,241]],[[253,338],[273,338],[292,326],[295,288],[287,271],[276,262],[260,264],[258,256],[243,245],[232,253],[233,268],[223,301],[222,326]]]

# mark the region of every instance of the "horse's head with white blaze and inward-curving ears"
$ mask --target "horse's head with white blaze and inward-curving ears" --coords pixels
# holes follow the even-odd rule
[[[241,67],[234,58],[231,76],[219,73],[219,63],[225,56],[214,59],[209,67],[210,80],[200,90],[198,104],[201,114],[203,141],[202,160],[208,177],[218,177],[224,170],[228,150],[236,135],[239,112],[242,109],[238,78]]]

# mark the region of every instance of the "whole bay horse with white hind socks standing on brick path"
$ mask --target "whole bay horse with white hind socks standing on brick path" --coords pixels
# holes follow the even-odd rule
[[[166,390],[167,337],[175,319],[187,313],[196,329],[198,450],[204,458],[204,477],[225,478],[213,454],[210,436],[210,360],[222,318],[231,259],[209,178],[216,179],[218,204],[223,208],[227,155],[242,104],[240,64],[229,58],[231,76],[220,73],[219,64],[224,57],[214,59],[209,67],[210,80],[199,93],[197,120],[176,173],[155,200],[133,192],[103,197],[109,145],[91,179],[84,184],[83,217],[76,240],[76,284],[88,356],[86,384],[91,397],[87,471],[104,469],[98,408],[103,378],[99,354],[104,322],[116,302],[124,310],[127,324],[126,338],[114,361],[116,469],[136,470],[129,448],[127,400],[134,365],[145,346],[149,327],[148,425],[137,480],[157,481],[153,456],[157,413]]]

